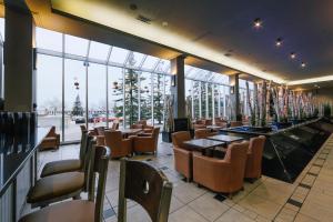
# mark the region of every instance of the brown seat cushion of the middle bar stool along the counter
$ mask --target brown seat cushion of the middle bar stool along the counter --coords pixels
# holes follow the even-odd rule
[[[68,172],[42,178],[28,193],[28,203],[37,203],[60,198],[77,191],[84,185],[83,172]]]

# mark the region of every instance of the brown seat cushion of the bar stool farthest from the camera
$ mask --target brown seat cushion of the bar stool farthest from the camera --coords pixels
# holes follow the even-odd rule
[[[60,160],[60,161],[53,161],[49,162],[44,165],[41,178],[44,178],[47,175],[53,175],[59,173],[65,173],[65,172],[73,172],[73,171],[80,171],[81,170],[81,161],[80,160]]]

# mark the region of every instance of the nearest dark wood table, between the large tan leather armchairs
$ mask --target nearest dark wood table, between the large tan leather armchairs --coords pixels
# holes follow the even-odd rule
[[[213,155],[213,151],[210,152],[210,149],[214,149],[216,147],[222,147],[225,143],[221,141],[215,140],[208,140],[208,139],[195,139],[195,140],[189,140],[183,142],[189,148],[193,148],[193,150],[200,150],[203,155]]]

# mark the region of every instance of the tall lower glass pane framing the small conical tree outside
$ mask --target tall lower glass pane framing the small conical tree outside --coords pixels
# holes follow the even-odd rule
[[[85,67],[82,61],[64,60],[64,141],[80,140],[85,124]]]

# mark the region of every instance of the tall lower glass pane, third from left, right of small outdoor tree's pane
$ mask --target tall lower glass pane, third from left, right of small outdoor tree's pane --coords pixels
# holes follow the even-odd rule
[[[107,68],[90,63],[88,69],[88,122],[90,128],[107,125]]]

